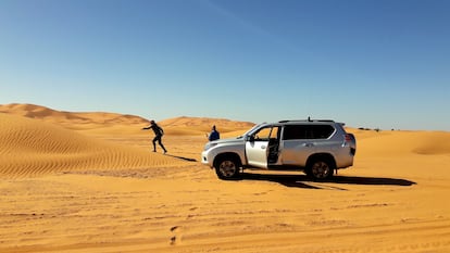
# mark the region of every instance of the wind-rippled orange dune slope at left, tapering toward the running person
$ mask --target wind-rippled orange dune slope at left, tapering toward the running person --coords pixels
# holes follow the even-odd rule
[[[148,150],[89,138],[53,124],[3,113],[0,113],[0,175],[10,177],[186,163]]]

